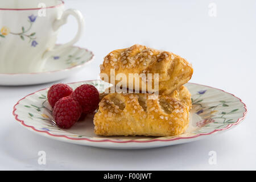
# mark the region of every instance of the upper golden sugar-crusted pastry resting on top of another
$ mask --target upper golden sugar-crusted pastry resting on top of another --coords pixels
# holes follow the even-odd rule
[[[135,80],[139,80],[139,90],[144,90],[145,93],[155,92],[155,84],[157,84],[155,83],[157,78],[155,73],[158,73],[159,94],[164,95],[171,94],[188,82],[193,74],[192,65],[182,57],[138,44],[110,52],[100,68],[101,74],[105,73],[109,78],[117,76],[118,73],[126,75],[126,85],[122,85],[126,88],[130,88],[129,81],[135,88]],[[129,80],[129,73],[134,74],[131,80]],[[150,82],[150,84],[148,83],[150,78],[148,73],[152,74],[152,83]],[[102,80],[111,82],[111,79],[102,78]],[[117,85],[121,80],[121,78],[120,80],[114,78],[114,84]]]

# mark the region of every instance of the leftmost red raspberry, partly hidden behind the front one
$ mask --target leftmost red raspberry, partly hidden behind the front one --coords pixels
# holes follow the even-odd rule
[[[59,101],[63,97],[70,96],[73,92],[73,89],[65,84],[55,84],[52,85],[48,90],[47,98],[49,104],[54,107],[57,101]]]

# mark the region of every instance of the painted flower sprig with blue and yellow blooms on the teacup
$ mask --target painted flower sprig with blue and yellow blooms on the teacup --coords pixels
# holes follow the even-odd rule
[[[16,35],[16,36],[19,36],[20,39],[22,40],[28,39],[28,43],[31,44],[31,47],[36,47],[36,45],[38,45],[38,42],[36,42],[36,37],[35,37],[36,32],[28,33],[31,30],[33,23],[36,21],[36,18],[37,16],[33,14],[28,16],[28,22],[30,23],[30,26],[28,28],[25,28],[22,26],[21,28],[22,31],[18,33],[11,32],[9,27],[3,26],[0,31],[0,37],[5,38],[9,34]]]

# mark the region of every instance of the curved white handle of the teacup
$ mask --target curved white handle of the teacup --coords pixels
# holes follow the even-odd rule
[[[52,28],[54,31],[57,31],[61,26],[63,26],[63,24],[67,23],[67,19],[69,15],[73,15],[77,19],[78,30],[75,38],[73,38],[70,42],[59,46],[58,48],[47,50],[46,52],[44,52],[43,58],[47,58],[53,55],[55,52],[60,51],[61,49],[64,49],[69,46],[73,46],[73,44],[75,44],[80,39],[82,32],[84,32],[84,17],[82,16],[79,10],[73,10],[73,9],[65,10],[61,15],[61,18],[56,19],[55,22],[53,22]]]

